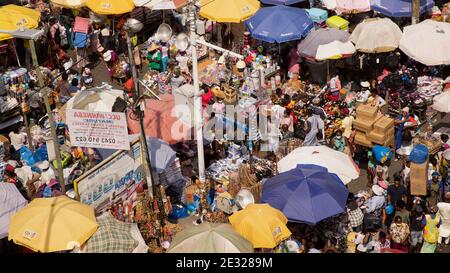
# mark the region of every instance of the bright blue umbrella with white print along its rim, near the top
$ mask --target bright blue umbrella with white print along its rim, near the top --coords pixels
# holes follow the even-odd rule
[[[253,38],[269,43],[300,40],[314,27],[305,9],[287,6],[262,8],[245,24]]]

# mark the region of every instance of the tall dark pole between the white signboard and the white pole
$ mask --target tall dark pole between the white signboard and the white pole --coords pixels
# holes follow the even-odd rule
[[[133,76],[133,102],[137,103],[138,99],[140,97],[140,89],[139,89],[139,79],[137,76],[136,71],[136,65],[134,63],[134,55],[133,55],[133,49],[131,46],[131,39],[130,39],[131,32],[127,31],[127,46],[128,46],[128,58],[130,59],[130,66],[131,66],[131,73]],[[145,105],[145,101],[142,102]],[[152,172],[152,165],[149,157],[149,151],[147,146],[147,138],[145,137],[145,128],[144,128],[144,111],[140,108],[135,108],[135,114],[139,119],[139,126],[140,126],[140,134],[139,134],[139,141],[141,143],[141,152],[144,154],[144,160],[142,162],[143,170],[145,174],[145,181],[148,185],[148,179],[150,179],[150,183],[152,184],[152,195],[153,198],[156,199],[158,203],[159,208],[159,221],[161,230],[164,228],[164,220],[165,220],[165,211],[164,211],[164,204],[161,200],[161,194],[158,193],[158,188],[156,187],[153,179],[153,172]],[[162,242],[162,236],[159,236],[158,238],[158,244],[161,245]]]

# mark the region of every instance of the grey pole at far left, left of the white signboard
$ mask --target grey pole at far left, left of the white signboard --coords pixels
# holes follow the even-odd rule
[[[60,148],[59,148],[58,138],[56,136],[56,128],[55,128],[55,123],[53,120],[53,112],[52,112],[52,109],[50,108],[50,103],[48,102],[47,87],[45,87],[44,78],[42,77],[41,68],[39,67],[39,63],[37,60],[36,47],[34,46],[34,40],[29,40],[29,42],[30,42],[31,58],[33,59],[33,66],[36,69],[39,88],[42,93],[42,97],[44,98],[45,108],[47,110],[47,115],[48,115],[48,119],[49,119],[49,123],[50,123],[50,131],[51,131],[51,136],[53,139],[53,148],[55,150],[55,156],[56,156],[56,164],[57,164],[56,169],[58,172],[58,180],[59,180],[59,184],[61,185],[61,190],[63,192],[66,192],[66,184],[64,181],[65,179],[64,179],[63,169],[62,169],[61,152],[60,152]],[[47,147],[47,149],[48,149],[48,147]]]

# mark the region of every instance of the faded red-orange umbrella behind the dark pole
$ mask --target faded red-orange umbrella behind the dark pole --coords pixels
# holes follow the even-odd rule
[[[161,100],[146,99],[144,128],[149,137],[160,138],[169,144],[175,144],[191,137],[192,127],[185,124],[176,115],[175,97],[165,94]],[[131,134],[140,132],[139,121],[128,113],[128,128]]]

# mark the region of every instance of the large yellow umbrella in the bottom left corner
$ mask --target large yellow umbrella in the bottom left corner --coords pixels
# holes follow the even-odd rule
[[[65,196],[36,198],[11,217],[8,240],[36,252],[71,250],[97,228],[90,206]]]

